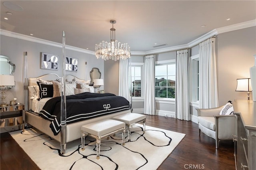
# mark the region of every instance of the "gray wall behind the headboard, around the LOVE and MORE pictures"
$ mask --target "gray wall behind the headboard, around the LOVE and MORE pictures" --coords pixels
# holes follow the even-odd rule
[[[17,102],[24,103],[24,85],[23,85],[23,59],[24,52],[28,52],[28,77],[38,77],[40,75],[48,73],[56,73],[61,76],[62,74],[62,48],[53,47],[50,45],[44,45],[41,43],[30,42],[21,40],[18,38],[11,38],[8,36],[0,37],[1,49],[0,54],[10,57],[12,63],[16,65],[14,73],[14,79],[16,86],[7,92],[6,100],[9,102],[14,97],[17,98]],[[46,52],[50,54],[56,54],[60,57],[60,68],[58,71],[40,69],[40,52]],[[66,74],[75,75],[78,78],[90,80],[89,72],[92,67],[98,67],[102,72],[102,79],[104,79],[104,61],[97,59],[95,55],[82,53],[66,49],[66,56],[74,57],[78,59],[78,71],[66,71]],[[87,70],[85,62],[87,61]],[[86,73],[85,73],[86,72]]]

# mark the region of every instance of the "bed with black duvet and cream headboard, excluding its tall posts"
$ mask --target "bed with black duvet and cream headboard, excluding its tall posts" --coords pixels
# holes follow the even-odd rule
[[[28,109],[25,112],[25,121],[29,125],[32,125],[41,132],[60,142],[62,154],[65,152],[67,142],[71,142],[81,137],[81,127],[83,125],[103,119],[110,119],[117,115],[130,112],[129,101],[124,97],[116,96],[111,93],[100,94],[85,92],[76,95],[67,95],[65,108],[66,125],[60,125],[61,96],[46,97],[38,100],[38,92],[35,92],[37,88],[39,88],[40,91],[40,86],[42,86],[42,89],[44,90],[40,91],[40,93],[46,93],[48,90],[46,87],[50,86],[47,85],[47,83],[60,79],[61,77],[53,73],[36,78],[28,78]],[[38,83],[39,80],[42,83]],[[73,75],[66,75],[64,81],[73,81],[72,84],[75,84],[75,87],[79,84],[85,84],[84,80],[78,79]],[[72,87],[73,85],[66,84],[66,93],[69,93],[70,91],[67,86]],[[76,90],[77,88],[75,87],[73,88]],[[35,91],[33,91],[33,89]],[[48,108],[46,107],[47,104]],[[56,105],[57,109],[55,108],[54,110],[51,110],[54,105]],[[53,112],[52,115],[50,115],[51,111]],[[54,115],[54,112],[58,113]],[[70,117],[74,119],[71,120]],[[65,129],[64,132],[63,129]]]

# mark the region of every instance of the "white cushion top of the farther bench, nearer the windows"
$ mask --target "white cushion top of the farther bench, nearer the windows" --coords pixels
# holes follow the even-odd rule
[[[138,113],[125,113],[124,115],[113,117],[113,119],[131,125],[133,123],[137,123],[139,121],[142,121],[143,119],[146,119],[146,115]]]

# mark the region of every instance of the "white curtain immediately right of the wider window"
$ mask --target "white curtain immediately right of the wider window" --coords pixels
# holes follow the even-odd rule
[[[190,121],[188,63],[189,50],[176,51],[176,115],[185,121]]]

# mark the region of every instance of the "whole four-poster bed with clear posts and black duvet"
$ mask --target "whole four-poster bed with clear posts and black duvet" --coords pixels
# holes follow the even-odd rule
[[[88,82],[72,75],[66,75],[65,61],[65,32],[63,31],[62,76],[59,77],[52,73],[36,78],[28,78],[27,52],[24,55],[23,72],[25,86],[25,120],[23,118],[23,123],[26,122],[32,125],[60,142],[62,154],[65,153],[67,142],[81,137],[81,127],[83,125],[132,112],[132,100],[129,102],[124,97],[111,93],[90,93],[92,92],[90,89],[93,87],[84,88],[89,86],[84,85]],[[53,87],[49,85],[50,81],[55,82],[52,85]],[[70,84],[66,82],[70,82]],[[80,88],[84,90],[72,86],[79,84]],[[39,88],[39,92],[36,91],[36,88]],[[52,95],[49,95],[50,90],[48,91],[48,89],[52,89]],[[72,89],[78,91],[78,94],[70,93]],[[90,92],[86,92],[85,89],[89,89]]]

